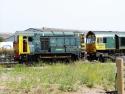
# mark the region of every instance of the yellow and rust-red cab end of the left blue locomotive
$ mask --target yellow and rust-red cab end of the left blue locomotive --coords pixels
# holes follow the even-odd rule
[[[16,41],[14,42],[14,59],[19,62],[25,62],[28,60],[28,55],[30,54],[30,47],[28,36],[18,35]]]

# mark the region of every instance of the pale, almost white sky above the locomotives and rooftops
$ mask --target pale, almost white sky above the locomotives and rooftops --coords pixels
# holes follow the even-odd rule
[[[0,32],[42,27],[125,31],[125,0],[0,0]]]

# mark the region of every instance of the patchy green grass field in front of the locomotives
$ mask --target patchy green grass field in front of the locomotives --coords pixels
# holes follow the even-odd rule
[[[44,64],[40,67],[16,65],[10,70],[0,68],[0,80],[3,86],[13,90],[12,94],[19,93],[20,90],[23,93],[35,92],[37,89],[36,92],[44,92],[45,94],[50,94],[55,89],[58,92],[70,92],[77,91],[81,86],[89,88],[102,86],[105,90],[114,88],[114,63],[82,62]]]

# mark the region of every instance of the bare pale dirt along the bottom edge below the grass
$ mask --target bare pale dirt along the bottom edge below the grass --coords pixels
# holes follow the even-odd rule
[[[39,89],[36,88],[35,90],[31,90],[27,93],[22,92],[22,90],[18,92],[20,92],[20,94],[46,94],[46,93],[43,93],[43,90],[41,88]],[[13,90],[11,91],[9,89],[6,89],[4,86],[0,86],[0,94],[16,94],[16,93],[14,93]],[[50,92],[50,94],[106,94],[106,93],[101,88],[90,89],[87,87],[82,87],[76,92],[61,92],[57,89],[54,89],[52,92]]]

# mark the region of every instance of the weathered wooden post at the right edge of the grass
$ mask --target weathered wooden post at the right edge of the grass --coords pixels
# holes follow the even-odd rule
[[[125,94],[124,93],[124,64],[122,58],[116,59],[116,66],[117,66],[117,89],[118,94]]]

